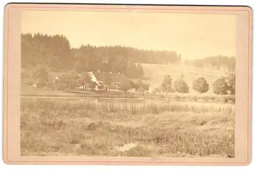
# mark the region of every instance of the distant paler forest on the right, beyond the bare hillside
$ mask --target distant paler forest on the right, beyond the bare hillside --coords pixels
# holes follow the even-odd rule
[[[217,69],[234,72],[236,70],[236,58],[227,56],[215,56],[198,60],[185,61],[185,65],[205,69]]]

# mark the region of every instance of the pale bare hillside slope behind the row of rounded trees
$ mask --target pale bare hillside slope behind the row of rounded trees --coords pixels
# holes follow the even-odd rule
[[[172,66],[161,64],[141,64],[141,66],[144,70],[144,77],[151,78],[150,84],[153,87],[160,87],[162,80],[166,75],[170,75],[174,82],[183,74],[184,80],[189,86],[189,93],[196,93],[192,89],[193,81],[199,77],[203,77],[209,83],[209,91],[206,92],[206,94],[214,94],[212,83],[222,76],[228,76],[231,74],[231,72],[189,67],[184,65]]]

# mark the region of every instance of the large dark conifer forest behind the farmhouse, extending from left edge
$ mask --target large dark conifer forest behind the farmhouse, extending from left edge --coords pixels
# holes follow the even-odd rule
[[[22,68],[43,65],[56,71],[97,70],[143,76],[139,63],[177,64],[181,55],[171,51],[145,51],[124,46],[81,45],[72,48],[63,35],[22,34]],[[138,63],[138,64],[136,64]]]

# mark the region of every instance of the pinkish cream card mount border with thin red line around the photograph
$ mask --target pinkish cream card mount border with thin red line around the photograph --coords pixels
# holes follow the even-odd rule
[[[236,158],[20,157],[20,16],[24,10],[168,12],[237,16]],[[104,19],[104,18],[102,18]],[[248,165],[251,161],[252,12],[248,7],[9,4],[5,7],[4,161],[8,164]]]

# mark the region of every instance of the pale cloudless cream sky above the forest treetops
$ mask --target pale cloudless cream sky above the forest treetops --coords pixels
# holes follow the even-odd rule
[[[71,47],[124,45],[176,51],[183,60],[235,56],[235,15],[23,11],[21,22],[22,33],[63,34]]]

